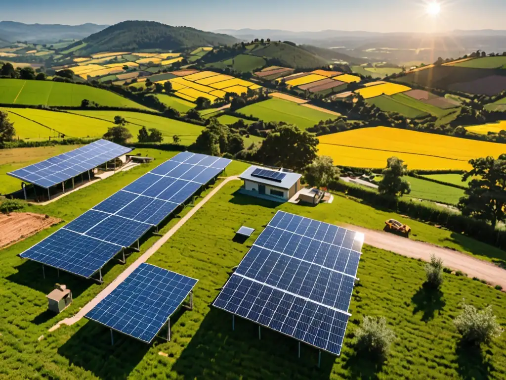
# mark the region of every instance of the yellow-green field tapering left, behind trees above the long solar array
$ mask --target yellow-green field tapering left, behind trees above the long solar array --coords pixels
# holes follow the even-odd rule
[[[197,136],[202,132],[203,127],[181,122],[179,120],[167,119],[162,116],[150,115],[149,113],[130,112],[130,111],[72,111],[76,115],[98,118],[109,122],[114,121],[114,117],[119,115],[126,119],[128,124],[126,128],[134,136],[133,140],[137,141],[139,129],[142,127],[156,128],[163,135],[163,142],[172,143],[172,137],[178,135],[181,138],[181,144],[190,145],[195,142]],[[93,120],[93,119],[91,119]]]

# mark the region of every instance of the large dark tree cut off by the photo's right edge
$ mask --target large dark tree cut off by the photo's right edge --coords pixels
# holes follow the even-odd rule
[[[489,220],[492,227],[506,220],[506,155],[470,160],[473,167],[462,181],[473,178],[460,198],[458,208],[463,215]]]

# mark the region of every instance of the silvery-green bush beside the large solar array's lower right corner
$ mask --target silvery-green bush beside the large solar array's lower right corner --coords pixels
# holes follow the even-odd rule
[[[395,334],[387,327],[385,317],[365,316],[355,335],[359,349],[377,354],[380,357],[385,357],[388,354],[390,345],[395,340]]]

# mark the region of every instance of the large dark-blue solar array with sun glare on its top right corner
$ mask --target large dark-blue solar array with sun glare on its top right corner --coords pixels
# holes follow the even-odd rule
[[[278,211],[213,305],[339,355],[362,244],[363,234]]]

